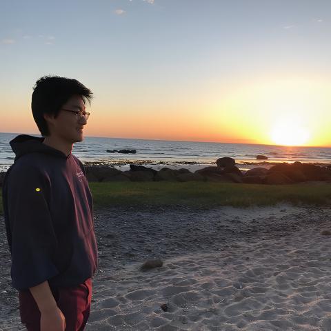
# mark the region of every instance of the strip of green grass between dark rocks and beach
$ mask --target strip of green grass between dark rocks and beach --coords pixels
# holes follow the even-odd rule
[[[329,205],[330,183],[253,185],[205,182],[90,183],[94,209],[114,206],[175,206],[211,208],[221,205]],[[3,214],[0,194],[0,214]]]

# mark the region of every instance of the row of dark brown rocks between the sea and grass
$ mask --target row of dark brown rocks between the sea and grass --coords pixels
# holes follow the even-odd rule
[[[243,172],[230,157],[222,157],[215,166],[196,172],[182,168],[162,168],[157,171],[142,165],[130,165],[130,170],[120,171],[105,165],[86,167],[88,181],[211,181],[223,183],[291,184],[305,181],[331,181],[331,167],[310,163],[280,163],[272,168],[254,168]]]

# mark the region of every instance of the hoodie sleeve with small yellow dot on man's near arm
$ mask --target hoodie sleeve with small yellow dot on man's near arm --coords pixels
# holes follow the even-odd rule
[[[50,181],[35,167],[12,169],[4,190],[12,254],[12,285],[23,290],[59,271],[52,262],[57,238],[48,208]]]

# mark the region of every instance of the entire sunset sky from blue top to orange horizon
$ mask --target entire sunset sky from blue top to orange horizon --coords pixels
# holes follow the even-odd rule
[[[330,0],[0,0],[0,132],[46,74],[92,137],[331,146]]]

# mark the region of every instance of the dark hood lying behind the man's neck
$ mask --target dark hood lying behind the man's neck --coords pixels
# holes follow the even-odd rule
[[[14,162],[16,162],[17,159],[19,159],[21,156],[34,152],[51,154],[56,157],[62,157],[64,159],[68,159],[68,157],[70,157],[71,152],[67,157],[66,154],[64,154],[60,150],[45,145],[43,143],[44,139],[45,138],[43,137],[39,138],[39,137],[30,136],[28,134],[20,134],[19,136],[12,139],[10,141],[10,147],[12,148],[12,151],[16,155]]]

